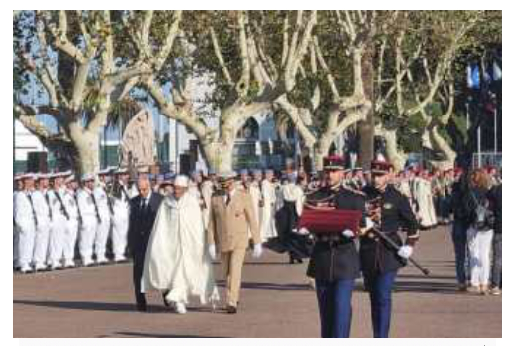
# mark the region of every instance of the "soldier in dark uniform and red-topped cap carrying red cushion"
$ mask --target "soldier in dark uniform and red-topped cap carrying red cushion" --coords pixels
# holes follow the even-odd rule
[[[344,160],[339,156],[324,160],[327,186],[307,196],[307,202],[316,206],[365,212],[363,194],[345,189]],[[364,226],[364,217],[361,221]],[[347,338],[351,324],[351,293],[359,277],[359,254],[355,235],[350,229],[342,234],[316,235],[307,275],[316,280],[316,292],[321,317],[323,338]]]

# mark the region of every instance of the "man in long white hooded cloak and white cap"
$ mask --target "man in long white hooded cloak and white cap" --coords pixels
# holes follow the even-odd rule
[[[142,291],[161,291],[180,314],[189,297],[201,304],[219,300],[199,201],[186,193],[189,179],[177,176],[174,193],[163,199],[144,259]]]

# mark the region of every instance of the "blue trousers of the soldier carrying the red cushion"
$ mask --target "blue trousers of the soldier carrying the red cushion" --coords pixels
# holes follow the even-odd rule
[[[322,338],[348,338],[354,279],[316,280]]]

